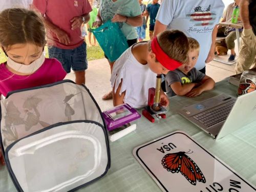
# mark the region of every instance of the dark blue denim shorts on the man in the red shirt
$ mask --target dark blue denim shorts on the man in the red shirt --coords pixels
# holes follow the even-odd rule
[[[67,73],[70,73],[71,68],[73,71],[84,71],[88,67],[86,42],[75,49],[48,47],[48,52],[50,58],[56,58],[61,62]]]

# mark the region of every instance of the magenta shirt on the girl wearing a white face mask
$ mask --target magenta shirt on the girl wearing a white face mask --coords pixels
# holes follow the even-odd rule
[[[61,63],[55,59],[46,58],[42,66],[31,75],[16,75],[6,68],[6,63],[0,64],[0,95],[8,92],[43,86],[45,84],[60,81],[66,76],[66,71]]]

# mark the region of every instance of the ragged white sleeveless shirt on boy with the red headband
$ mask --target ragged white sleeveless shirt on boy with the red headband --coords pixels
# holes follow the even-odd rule
[[[122,79],[119,94],[124,91],[124,103],[133,108],[143,108],[147,105],[148,89],[156,87],[157,74],[148,65],[142,65],[132,54],[132,47],[128,48],[115,62],[111,75],[112,88],[115,93]]]

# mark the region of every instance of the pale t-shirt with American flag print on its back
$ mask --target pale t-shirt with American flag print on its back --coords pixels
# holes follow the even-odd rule
[[[220,22],[224,9],[221,0],[164,0],[156,19],[167,29],[178,29],[200,44],[196,68],[205,67],[211,46],[211,33]]]

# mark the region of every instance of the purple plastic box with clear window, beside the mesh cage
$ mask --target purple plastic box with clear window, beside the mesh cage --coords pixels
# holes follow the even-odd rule
[[[140,118],[140,114],[127,103],[104,111],[102,115],[109,131]]]

